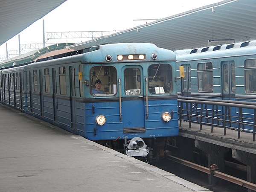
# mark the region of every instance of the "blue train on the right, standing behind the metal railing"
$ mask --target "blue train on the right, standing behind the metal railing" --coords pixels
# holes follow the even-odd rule
[[[179,96],[255,102],[256,41],[178,50],[175,53],[177,65],[183,66],[185,73],[183,79],[177,80]],[[224,108],[218,110],[225,115]],[[237,114],[238,111],[234,110],[230,116]],[[253,114],[253,109],[243,111],[244,117],[252,119],[248,120],[248,130],[253,130]]]

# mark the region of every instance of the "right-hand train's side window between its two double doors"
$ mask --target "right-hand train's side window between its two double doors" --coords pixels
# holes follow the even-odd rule
[[[212,92],[213,90],[213,72],[212,62],[198,63],[198,91]]]

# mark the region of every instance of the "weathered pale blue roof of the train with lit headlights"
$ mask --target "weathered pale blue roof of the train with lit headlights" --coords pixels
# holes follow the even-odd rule
[[[113,49],[113,48],[115,48],[115,49]],[[19,69],[20,69],[21,66],[23,66],[23,68],[25,66],[26,67],[35,66],[41,61],[51,61],[51,60],[55,60],[55,59],[56,59],[55,64],[57,64],[59,62],[63,62],[64,58],[67,58],[67,59],[65,59],[66,60],[65,62],[75,61],[75,60],[81,61],[81,62],[92,62],[92,63],[93,62],[102,62],[102,57],[99,57],[98,55],[96,55],[96,54],[99,54],[99,52],[97,50],[100,50],[101,55],[104,57],[107,55],[111,55],[111,54],[112,55],[128,55],[128,54],[144,54],[144,53],[150,52],[151,54],[161,53],[158,55],[158,61],[159,60],[176,61],[176,55],[173,51],[171,51],[169,49],[159,48],[154,44],[150,44],[150,43],[119,43],[119,44],[103,44],[103,45],[99,45],[99,46],[89,47],[86,49],[64,52],[62,54],[51,55],[49,57],[40,58],[36,61],[31,61],[31,62],[26,62],[23,64],[5,67],[0,70],[1,71],[8,70],[8,69],[12,69],[14,67],[16,67],[16,68],[19,67]],[[116,52],[116,50],[118,50],[118,52]],[[83,53],[86,55],[85,57],[81,55]],[[164,54],[162,54],[162,53],[164,53]],[[147,56],[146,59],[151,59],[151,54],[146,55]],[[81,56],[70,57],[70,56],[75,56],[75,55],[81,55]],[[117,58],[116,57],[113,58],[112,61],[113,62],[117,61]],[[52,64],[52,62],[48,63],[48,64]]]

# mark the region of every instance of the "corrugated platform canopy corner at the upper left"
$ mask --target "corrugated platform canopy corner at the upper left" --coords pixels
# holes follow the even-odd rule
[[[0,45],[66,0],[0,0]]]

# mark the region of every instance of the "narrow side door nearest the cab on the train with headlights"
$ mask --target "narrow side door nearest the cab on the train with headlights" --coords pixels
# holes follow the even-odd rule
[[[75,67],[69,67],[70,75],[70,117],[71,129],[76,130],[76,85],[75,85]]]

